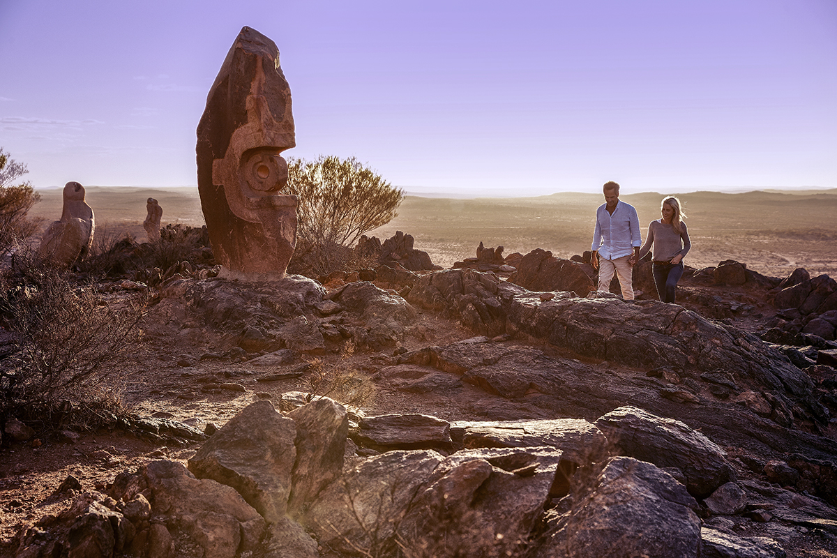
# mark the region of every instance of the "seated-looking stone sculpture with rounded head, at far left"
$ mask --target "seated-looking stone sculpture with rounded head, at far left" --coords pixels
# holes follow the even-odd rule
[[[38,254],[55,265],[68,267],[85,259],[93,244],[94,231],[93,209],[85,203],[85,187],[78,182],[67,182],[61,219],[47,228]]]

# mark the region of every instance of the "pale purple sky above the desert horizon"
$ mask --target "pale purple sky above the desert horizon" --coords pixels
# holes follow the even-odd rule
[[[0,146],[35,187],[197,183],[240,28],[295,149],[409,192],[837,187],[834,0],[0,0]]]

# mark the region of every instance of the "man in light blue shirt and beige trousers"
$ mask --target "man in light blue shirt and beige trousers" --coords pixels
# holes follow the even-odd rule
[[[619,277],[622,298],[634,299],[634,264],[639,261],[639,218],[634,206],[619,202],[619,184],[606,182],[604,203],[596,210],[591,263],[598,269],[598,290],[610,290],[614,272]]]

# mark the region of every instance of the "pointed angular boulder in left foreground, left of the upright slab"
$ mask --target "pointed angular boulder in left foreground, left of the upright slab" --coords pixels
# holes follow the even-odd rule
[[[239,491],[247,502],[275,523],[285,516],[296,458],[296,425],[258,401],[214,433],[189,459],[200,479],[214,479]]]

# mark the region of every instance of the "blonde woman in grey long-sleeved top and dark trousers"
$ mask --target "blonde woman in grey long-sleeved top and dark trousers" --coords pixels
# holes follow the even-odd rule
[[[680,200],[674,196],[666,197],[660,206],[662,218],[652,221],[648,226],[648,236],[639,250],[639,259],[649,252],[654,244],[654,284],[657,295],[663,302],[675,301],[677,281],[683,274],[683,258],[691,248],[686,223],[686,215],[680,210]]]

